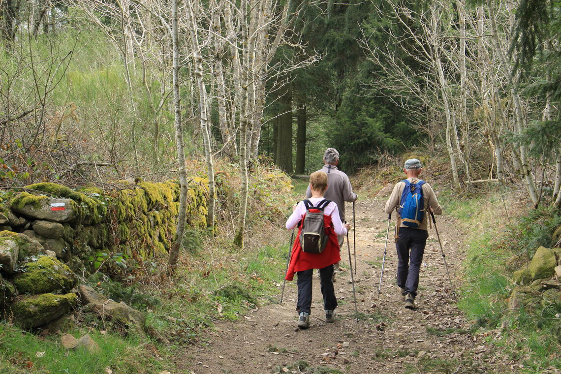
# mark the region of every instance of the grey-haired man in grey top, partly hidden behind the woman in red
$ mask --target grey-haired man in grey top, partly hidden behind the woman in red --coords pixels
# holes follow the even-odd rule
[[[358,196],[355,192],[352,192],[351,182],[347,174],[343,173],[341,170],[337,169],[337,164],[339,163],[339,152],[334,148],[328,148],[323,154],[324,166],[318,172],[324,172],[327,174],[329,188],[325,191],[325,198],[331,200],[337,204],[339,208],[339,217],[341,221],[345,221],[345,201],[353,202],[356,201]],[[310,187],[306,190],[306,197],[311,196]],[[339,235],[339,248],[343,248],[343,242],[346,234]],[[334,265],[333,268],[333,281],[335,281],[335,274],[337,272],[345,271],[343,268],[339,268],[339,262]]]

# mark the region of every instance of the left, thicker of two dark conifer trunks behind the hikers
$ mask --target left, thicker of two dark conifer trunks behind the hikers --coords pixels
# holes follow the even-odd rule
[[[290,89],[279,99],[279,128],[277,138],[277,165],[284,172],[292,173],[292,93]]]

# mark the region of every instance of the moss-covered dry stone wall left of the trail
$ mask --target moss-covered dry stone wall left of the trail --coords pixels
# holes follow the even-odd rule
[[[167,255],[176,233],[180,186],[125,182],[121,188],[71,190],[37,183],[0,190],[0,314],[38,327],[77,303],[75,273],[118,258]],[[187,227],[206,227],[208,179],[192,178]],[[118,261],[115,261],[116,265]]]

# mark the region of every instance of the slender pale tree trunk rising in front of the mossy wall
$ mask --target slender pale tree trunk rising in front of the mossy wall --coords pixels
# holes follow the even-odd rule
[[[185,153],[183,151],[183,126],[181,124],[181,101],[179,93],[179,41],[177,31],[177,2],[172,0],[172,44],[173,44],[173,109],[175,112],[175,132],[177,142],[177,163],[179,166],[179,213],[177,216],[177,231],[173,238],[171,248],[169,248],[168,266],[171,273],[177,263],[177,257],[181,248],[183,233],[185,232],[185,222],[187,218],[187,170],[185,169]]]

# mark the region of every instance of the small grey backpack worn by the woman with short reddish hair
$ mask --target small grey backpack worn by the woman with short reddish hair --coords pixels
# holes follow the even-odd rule
[[[300,243],[302,251],[307,253],[321,253],[327,246],[329,235],[325,233],[323,221],[323,210],[330,200],[321,200],[318,206],[314,206],[310,200],[304,200],[306,215],[302,219],[302,230],[300,232]]]

